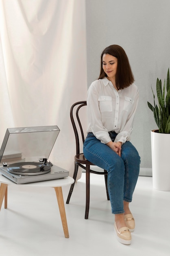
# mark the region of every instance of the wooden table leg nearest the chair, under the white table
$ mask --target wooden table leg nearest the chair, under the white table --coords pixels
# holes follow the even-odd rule
[[[55,189],[55,193],[56,193],[57,201],[59,205],[59,211],[60,211],[61,221],[63,225],[64,235],[65,235],[65,238],[69,238],[62,188],[61,186],[59,186],[59,187],[55,187],[54,189]]]

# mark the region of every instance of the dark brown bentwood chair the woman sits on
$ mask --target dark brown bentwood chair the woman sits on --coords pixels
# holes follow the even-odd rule
[[[73,179],[74,183],[70,187],[70,191],[68,194],[68,198],[66,201],[66,204],[69,204],[70,198],[74,189],[74,185],[76,182],[76,177],[78,173],[78,167],[80,166],[86,171],[86,207],[85,207],[85,219],[88,219],[89,216],[89,200],[90,200],[90,173],[95,173],[95,174],[100,174],[100,175],[105,175],[105,185],[106,185],[106,193],[107,193],[107,200],[109,200],[109,193],[107,189],[107,171],[93,171],[91,166],[94,166],[91,162],[87,161],[85,159],[85,156],[83,155],[83,148],[80,150],[81,144],[83,145],[85,141],[84,137],[84,132],[83,132],[83,127],[81,125],[80,117],[79,117],[79,110],[86,106],[87,102],[86,101],[78,101],[74,103],[70,109],[70,118],[72,122],[72,126],[74,129],[74,134],[76,138],[76,155],[74,156],[74,174],[73,174]],[[81,112],[81,111],[80,111]],[[82,117],[83,119],[83,117]],[[80,143],[82,140],[83,143]]]

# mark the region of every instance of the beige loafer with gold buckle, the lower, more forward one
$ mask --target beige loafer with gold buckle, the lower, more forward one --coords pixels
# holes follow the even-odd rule
[[[124,245],[131,244],[131,232],[127,227],[121,227],[119,230],[116,226],[116,222],[114,223],[114,229],[116,231],[117,239],[120,243]]]

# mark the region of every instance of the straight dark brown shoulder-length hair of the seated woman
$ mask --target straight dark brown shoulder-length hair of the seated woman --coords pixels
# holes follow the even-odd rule
[[[102,67],[103,54],[110,54],[118,59],[116,77],[115,77],[116,87],[118,88],[118,90],[128,87],[135,81],[126,52],[119,45],[110,45],[102,51],[100,76],[98,79],[103,79],[105,76],[107,76],[107,74],[104,72]]]

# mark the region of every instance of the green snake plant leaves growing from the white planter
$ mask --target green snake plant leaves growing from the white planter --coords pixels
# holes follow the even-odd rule
[[[151,86],[152,89],[152,86]],[[160,133],[170,133],[170,74],[169,68],[167,79],[164,80],[163,90],[162,82],[157,78],[157,100],[158,106],[155,104],[155,94],[153,92],[154,106],[148,102],[148,107],[153,111],[155,122],[159,128]]]

